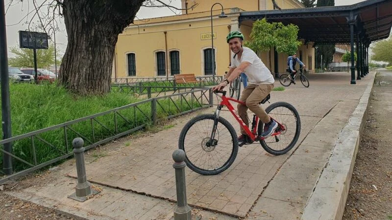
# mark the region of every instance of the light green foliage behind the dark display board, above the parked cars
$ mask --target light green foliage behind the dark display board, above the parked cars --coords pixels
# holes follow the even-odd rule
[[[34,67],[33,49],[13,46],[10,47],[10,51],[14,53],[16,57],[8,59],[9,66]],[[57,61],[57,65],[59,65],[59,62],[60,61]],[[51,65],[54,65],[54,45],[49,44],[48,49],[37,49],[37,67],[47,68]]]

